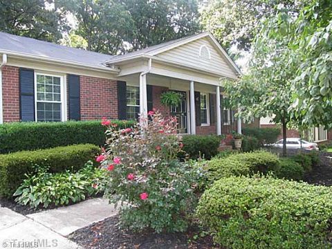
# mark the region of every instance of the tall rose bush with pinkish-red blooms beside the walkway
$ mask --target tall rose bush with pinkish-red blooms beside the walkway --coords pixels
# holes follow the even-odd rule
[[[184,231],[194,208],[195,177],[190,165],[177,158],[183,144],[176,118],[150,111],[141,121],[121,130],[107,123],[107,146],[97,158],[109,172],[106,196],[111,203],[123,204],[124,228]]]

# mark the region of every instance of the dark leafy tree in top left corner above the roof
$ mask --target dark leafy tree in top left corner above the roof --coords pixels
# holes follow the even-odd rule
[[[0,31],[57,42],[68,26],[64,15],[55,11],[52,3],[52,0],[0,0]]]

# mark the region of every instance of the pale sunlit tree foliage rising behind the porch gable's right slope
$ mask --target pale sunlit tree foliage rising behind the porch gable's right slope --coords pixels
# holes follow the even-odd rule
[[[202,2],[203,0],[201,0]],[[302,1],[293,0],[210,0],[203,1],[201,24],[225,47],[236,45],[249,50],[259,32],[259,21],[275,15],[283,3],[291,12],[298,12]]]

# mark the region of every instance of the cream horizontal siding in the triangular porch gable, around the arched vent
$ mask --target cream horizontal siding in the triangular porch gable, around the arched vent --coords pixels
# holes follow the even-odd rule
[[[199,49],[202,45],[205,45],[209,48],[211,59],[199,57]],[[210,39],[207,37],[203,37],[201,39],[197,39],[194,42],[190,42],[171,50],[167,50],[164,53],[160,53],[156,56],[160,57],[161,59],[167,59],[171,62],[180,63],[186,66],[198,67],[206,71],[212,71],[225,77],[237,77],[234,69],[232,66],[230,66],[225,56],[222,55],[219,50],[214,48],[212,42],[210,42]]]

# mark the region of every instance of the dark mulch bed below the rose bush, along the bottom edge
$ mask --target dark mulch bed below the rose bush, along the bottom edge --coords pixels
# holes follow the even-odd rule
[[[118,216],[112,216],[104,221],[94,223],[68,235],[86,249],[212,249],[221,248],[214,245],[212,238],[205,236],[194,240],[199,234],[199,228],[192,226],[185,233],[156,234],[152,231],[140,233],[121,230],[118,226]]]

